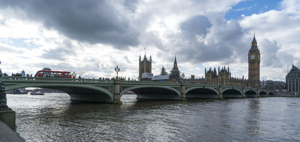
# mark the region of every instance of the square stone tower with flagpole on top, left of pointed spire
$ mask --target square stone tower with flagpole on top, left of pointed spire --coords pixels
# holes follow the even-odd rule
[[[139,61],[138,61],[138,80],[141,81],[141,74],[142,73],[151,73],[151,66],[152,66],[152,59],[150,55],[150,59],[147,60],[146,53],[144,55],[143,60],[140,59],[139,55]]]

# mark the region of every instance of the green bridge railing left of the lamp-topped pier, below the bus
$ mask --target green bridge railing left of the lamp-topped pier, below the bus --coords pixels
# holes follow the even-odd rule
[[[3,82],[72,82],[72,83],[113,83],[113,80],[99,79],[78,79],[78,78],[56,78],[56,77],[21,77],[21,76],[2,76]]]

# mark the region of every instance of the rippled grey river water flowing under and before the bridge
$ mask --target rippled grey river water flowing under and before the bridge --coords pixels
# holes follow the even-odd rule
[[[72,103],[64,93],[7,94],[27,142],[299,142],[300,98]]]

